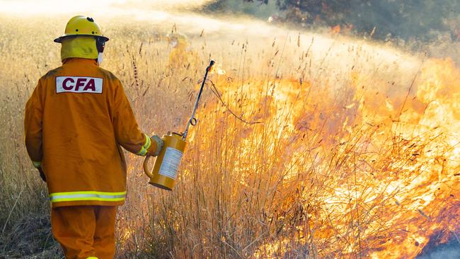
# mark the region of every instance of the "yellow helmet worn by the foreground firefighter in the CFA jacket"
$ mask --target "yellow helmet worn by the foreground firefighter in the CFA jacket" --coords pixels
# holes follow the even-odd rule
[[[108,38],[102,35],[99,25],[93,18],[87,16],[74,16],[66,25],[64,35],[54,39],[54,42],[61,43],[62,40],[71,36],[94,36],[103,42],[108,41]]]

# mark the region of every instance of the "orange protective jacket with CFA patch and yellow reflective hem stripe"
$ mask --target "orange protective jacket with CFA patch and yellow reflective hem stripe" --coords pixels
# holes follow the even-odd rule
[[[47,178],[52,207],[122,205],[120,146],[145,156],[156,144],[137,126],[122,84],[94,59],[65,59],[25,105],[25,146]]]

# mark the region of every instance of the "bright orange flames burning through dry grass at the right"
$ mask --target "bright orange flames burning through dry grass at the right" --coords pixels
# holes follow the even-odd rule
[[[327,81],[321,90],[298,79],[214,81],[226,101],[236,100],[227,108],[263,122],[238,125],[226,107],[207,105],[205,120],[223,117],[191,140],[200,150],[231,141],[232,149],[214,151],[236,158],[223,161],[234,172],[234,195],[260,185],[258,172],[268,178],[255,197],[277,238],[255,257],[304,247],[328,258],[414,258],[430,238],[445,243],[460,230],[459,69],[430,59],[397,95],[394,82],[359,71],[348,81],[341,96]]]

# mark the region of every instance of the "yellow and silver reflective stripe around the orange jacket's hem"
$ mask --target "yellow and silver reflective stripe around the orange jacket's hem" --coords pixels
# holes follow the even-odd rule
[[[102,202],[118,202],[125,200],[125,192],[54,192],[50,194],[51,202],[74,202],[80,200],[98,200]]]

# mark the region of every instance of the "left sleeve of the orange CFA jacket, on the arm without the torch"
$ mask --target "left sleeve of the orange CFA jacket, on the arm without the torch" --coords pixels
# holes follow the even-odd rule
[[[24,115],[24,142],[27,153],[33,166],[39,168],[42,164],[42,120],[43,103],[40,95],[42,91],[41,80],[25,104]]]

